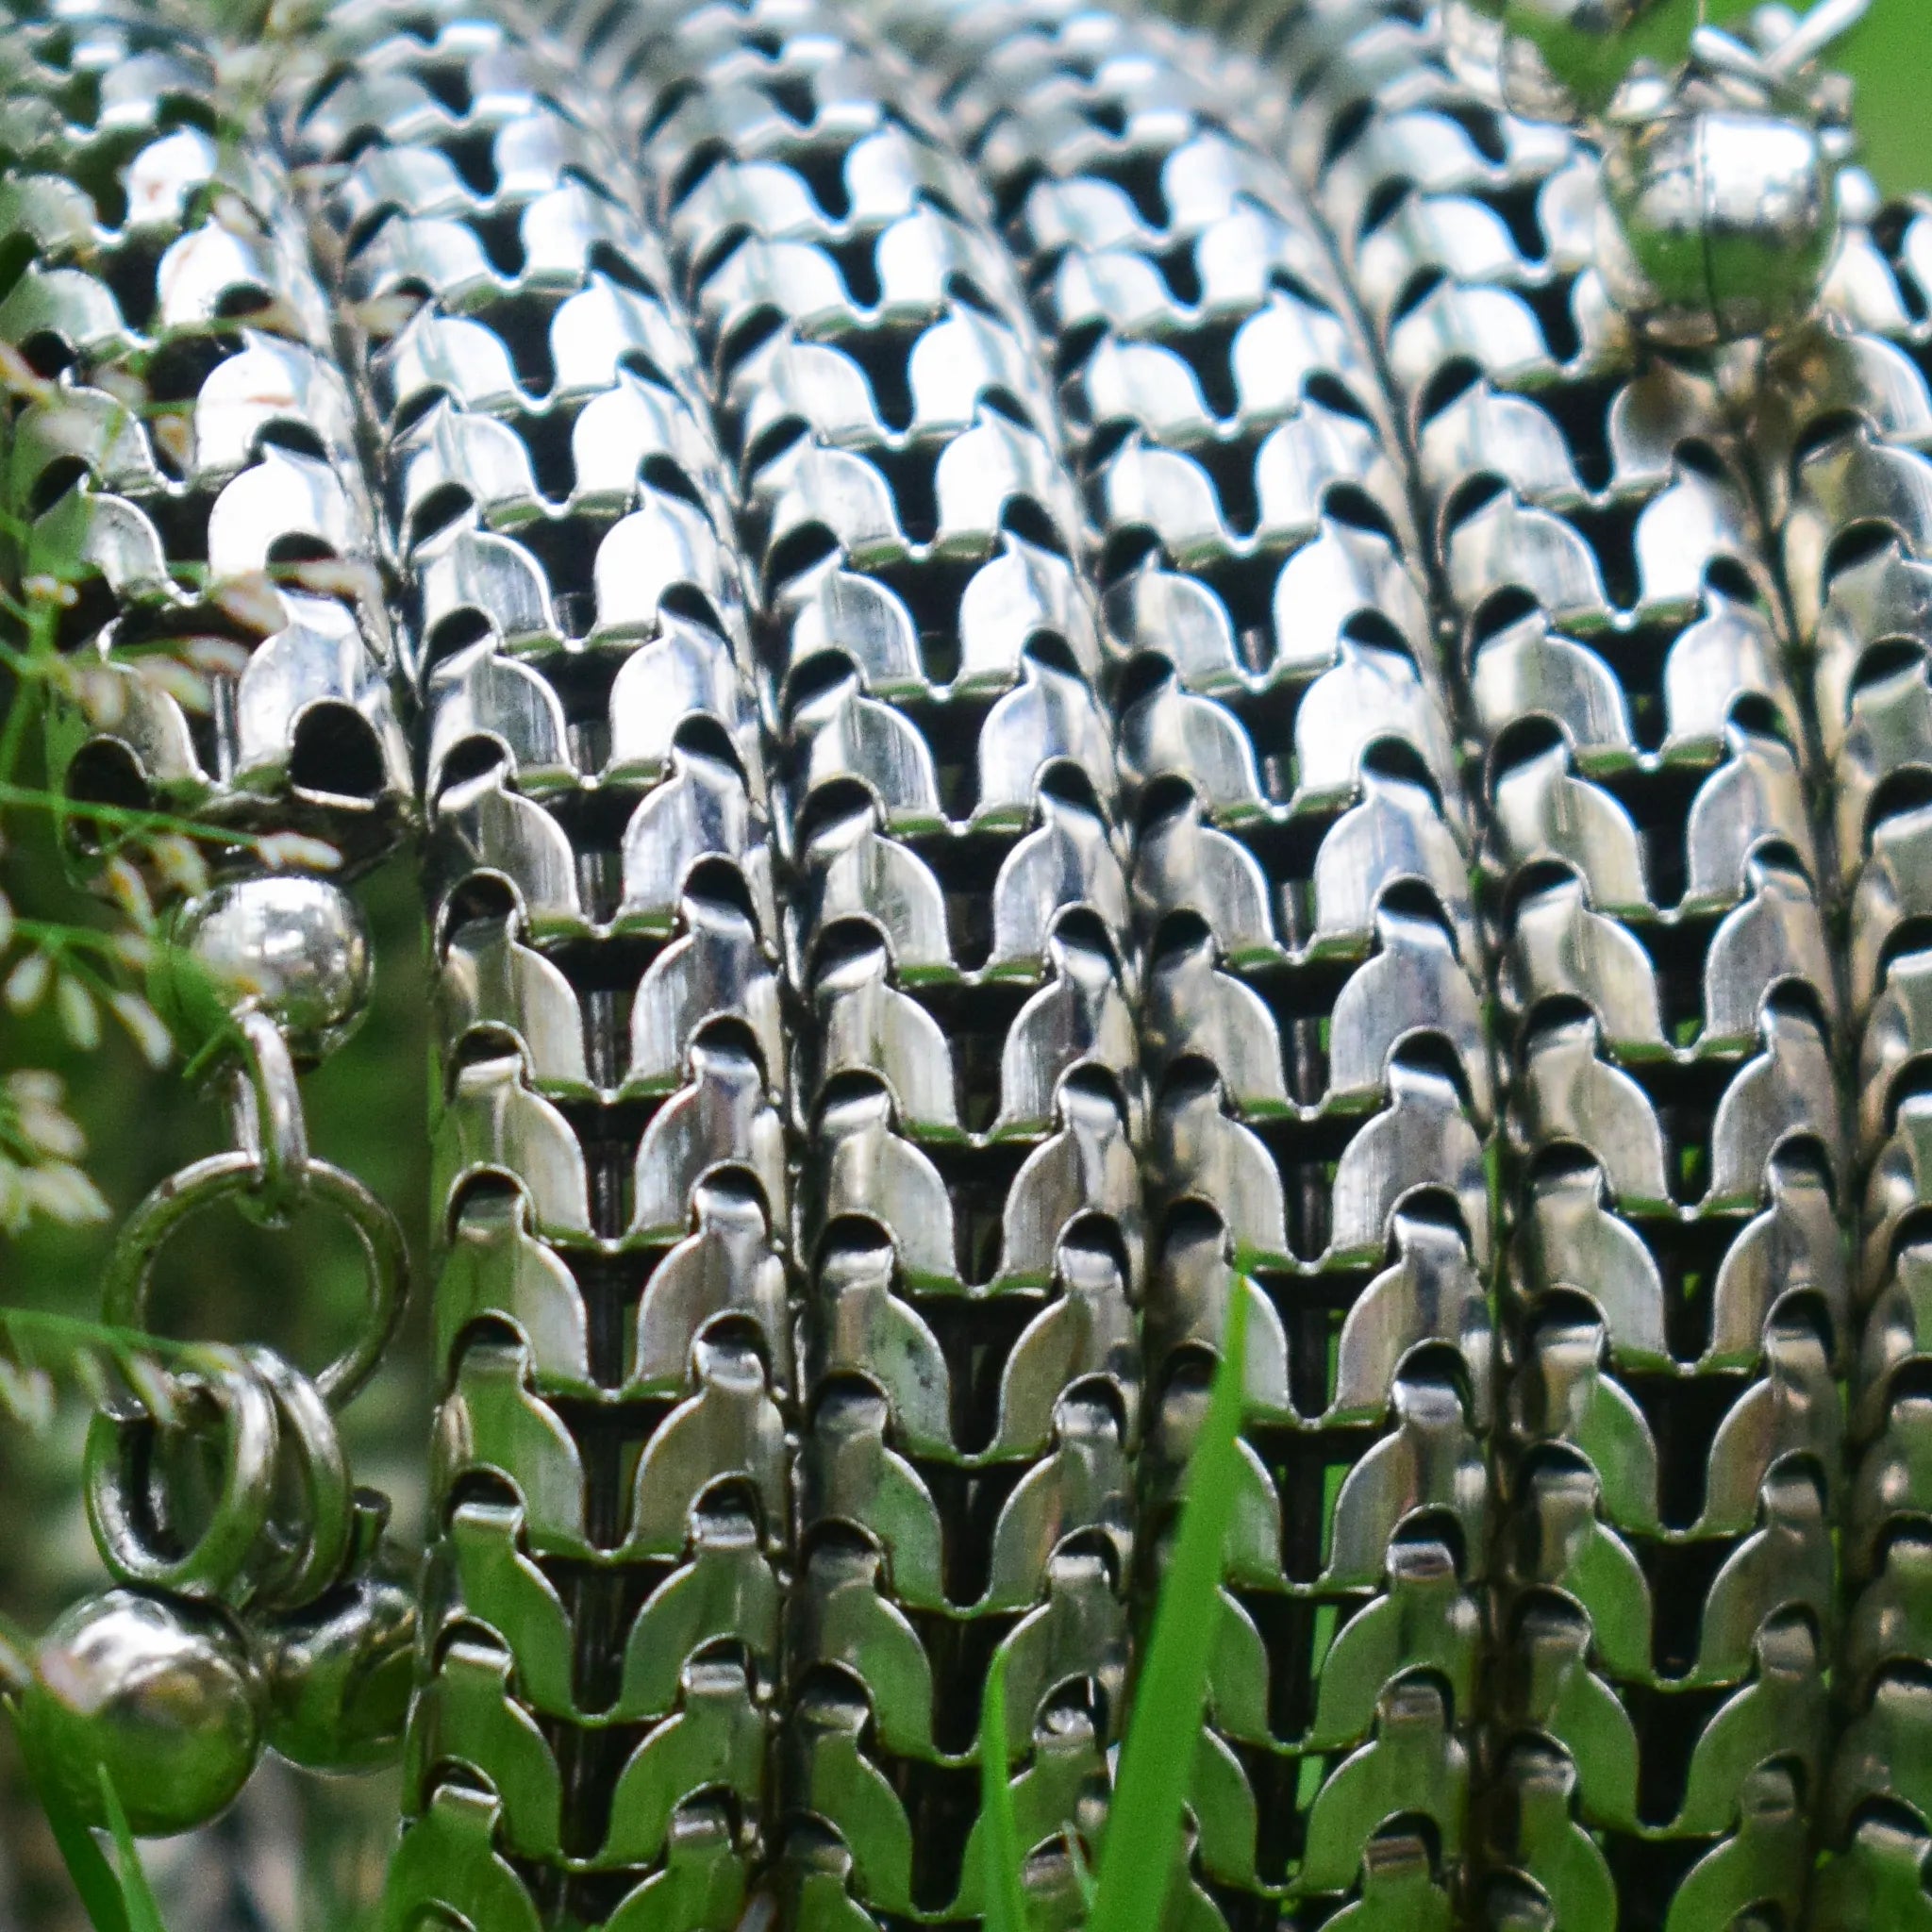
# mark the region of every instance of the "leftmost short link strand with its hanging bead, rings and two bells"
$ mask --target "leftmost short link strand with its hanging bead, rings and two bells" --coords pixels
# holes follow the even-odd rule
[[[309,1157],[298,1070],[355,1028],[371,976],[354,900],[309,873],[384,852],[410,759],[354,412],[270,147],[162,8],[10,10],[0,73],[10,587],[52,612],[71,672],[50,779],[75,869],[156,906],[151,991],[226,1082],[238,1140],[135,1208],[102,1316],[145,1331],[158,1250],[222,1200],[272,1225],[342,1215],[369,1279],[313,1379],[267,1349],[174,1345],[89,1430],[118,1588],[41,1640],[19,1721],[79,1816],[104,1822],[106,1772],[133,1828],[168,1835],[218,1814],[265,1745],[354,1770],[400,1741],[413,1605],[334,1410],[394,1329],[404,1242]],[[182,829],[172,856],[160,827]]]

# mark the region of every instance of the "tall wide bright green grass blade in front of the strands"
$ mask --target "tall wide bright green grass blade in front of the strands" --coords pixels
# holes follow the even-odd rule
[[[1180,1528],[1126,1721],[1088,1932],[1159,1932],[1180,1857],[1194,1741],[1208,1710],[1208,1665],[1221,1623],[1221,1549],[1240,1474],[1246,1339],[1248,1283],[1236,1277],[1221,1366],[1188,1459]]]

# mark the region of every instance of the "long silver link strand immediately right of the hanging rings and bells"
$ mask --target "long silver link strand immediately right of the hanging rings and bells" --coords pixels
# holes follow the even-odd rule
[[[294,139],[410,601],[435,1548],[386,1920],[719,1928],[765,1847],[798,1387],[759,678],[692,332],[595,102],[348,0]]]

